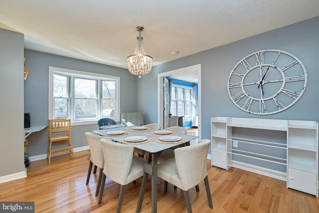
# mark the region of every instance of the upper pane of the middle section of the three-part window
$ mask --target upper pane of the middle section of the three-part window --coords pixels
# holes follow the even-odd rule
[[[96,80],[74,78],[75,98],[96,98]]]

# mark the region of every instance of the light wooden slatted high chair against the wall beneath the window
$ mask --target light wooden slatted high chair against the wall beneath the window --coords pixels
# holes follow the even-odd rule
[[[52,149],[52,144],[67,143],[67,146]],[[56,152],[69,151],[73,154],[73,146],[71,143],[71,119],[53,119],[49,120],[49,147],[47,158],[51,163],[51,154]]]

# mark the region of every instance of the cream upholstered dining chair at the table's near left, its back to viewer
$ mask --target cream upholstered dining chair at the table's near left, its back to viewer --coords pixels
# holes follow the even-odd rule
[[[102,203],[105,179],[121,185],[116,212],[121,212],[125,187],[127,184],[143,177],[146,159],[133,155],[134,146],[101,139],[104,155],[104,169],[98,204]]]

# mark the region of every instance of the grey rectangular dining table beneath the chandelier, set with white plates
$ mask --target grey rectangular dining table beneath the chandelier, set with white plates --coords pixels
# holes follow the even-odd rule
[[[144,166],[144,176],[142,180],[141,186],[146,186],[146,182],[148,180],[148,175],[152,176],[152,213],[157,213],[157,202],[158,202],[158,158],[163,150],[178,146],[178,145],[189,145],[189,142],[191,140],[194,140],[196,138],[199,138],[198,136],[193,135],[179,135],[176,134],[176,136],[180,136],[182,139],[184,139],[184,142],[182,143],[169,143],[169,144],[161,144],[156,142],[156,139],[158,139],[160,136],[152,135],[154,132],[153,130],[149,131],[132,131],[132,127],[120,127],[115,128],[114,130],[123,130],[126,131],[128,134],[123,136],[108,136],[114,141],[121,142],[123,139],[130,137],[130,136],[146,136],[148,138],[151,138],[151,141],[144,144],[132,144],[135,148],[143,150],[147,153],[147,162]],[[104,129],[104,130],[95,130],[93,132],[96,132],[100,135],[103,135],[104,133],[112,131],[112,129]],[[144,190],[141,190],[142,192]],[[138,201],[138,207],[136,212],[141,212],[142,208],[142,198],[144,197],[144,194],[139,196]]]

